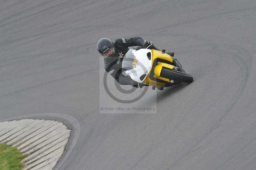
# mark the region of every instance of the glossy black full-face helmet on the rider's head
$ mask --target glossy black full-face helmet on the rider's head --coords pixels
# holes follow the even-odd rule
[[[115,53],[115,45],[108,38],[101,38],[97,43],[97,49],[104,58],[110,58]]]

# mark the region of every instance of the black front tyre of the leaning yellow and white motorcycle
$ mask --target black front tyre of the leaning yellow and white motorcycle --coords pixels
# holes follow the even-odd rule
[[[169,80],[181,81],[185,83],[191,83],[193,81],[193,77],[191,75],[166,67],[162,68],[160,76]]]

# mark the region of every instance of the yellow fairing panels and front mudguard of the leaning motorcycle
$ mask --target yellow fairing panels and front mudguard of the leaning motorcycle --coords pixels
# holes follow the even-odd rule
[[[152,65],[151,65],[151,68],[153,66],[153,62],[155,61],[156,58],[161,58],[163,60],[167,60],[167,61],[170,61],[172,62],[172,57],[170,57],[168,54],[166,53],[162,53],[161,51],[158,51],[158,50],[151,50],[151,58],[152,58]],[[151,71],[154,71],[154,74],[156,75],[156,78],[157,79],[160,79],[160,80],[164,80],[164,81],[170,81],[169,79],[166,79],[164,77],[160,77],[160,73],[161,73],[161,70],[162,70],[162,67],[167,67],[167,68],[173,68],[174,66],[172,65],[169,65],[169,64],[166,64],[166,63],[162,63],[160,62],[159,64],[157,64],[154,68],[154,70],[151,70]],[[148,84],[148,85],[151,85],[151,86],[156,86],[156,87],[163,87],[165,85],[165,83],[162,83],[162,82],[158,82],[158,81],[154,81],[154,80],[151,80],[149,78],[149,75],[150,73],[148,74],[148,76],[146,77],[146,79],[142,82],[144,84]]]

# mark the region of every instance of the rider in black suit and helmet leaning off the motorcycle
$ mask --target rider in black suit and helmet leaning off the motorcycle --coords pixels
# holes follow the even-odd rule
[[[132,80],[130,77],[126,77],[122,74],[122,61],[123,56],[129,50],[128,47],[139,46],[135,48],[139,50],[140,48],[147,48],[151,42],[143,40],[141,37],[133,38],[119,38],[113,43],[108,38],[101,38],[97,43],[97,49],[100,55],[104,58],[104,69],[116,79],[116,81],[121,85],[132,85],[133,87],[138,87],[138,82]],[[148,49],[154,49],[154,45]],[[174,56],[174,52],[168,51],[167,54]],[[162,90],[163,88],[158,88]]]

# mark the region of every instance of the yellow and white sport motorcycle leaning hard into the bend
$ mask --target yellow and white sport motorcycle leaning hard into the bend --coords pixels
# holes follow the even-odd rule
[[[193,77],[187,74],[180,62],[156,47],[148,49],[129,49],[122,62],[122,73],[143,86],[170,87],[180,82],[191,83]]]

